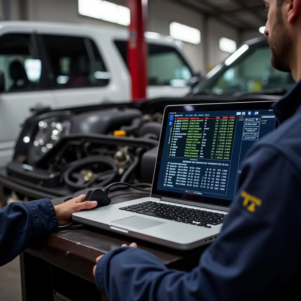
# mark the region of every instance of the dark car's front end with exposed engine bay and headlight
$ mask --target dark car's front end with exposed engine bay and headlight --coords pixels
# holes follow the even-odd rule
[[[49,198],[113,182],[150,185],[166,105],[186,102],[192,107],[271,97],[275,96],[204,95],[36,112],[23,124],[13,160],[1,169],[0,178],[20,185],[19,191],[26,187],[32,196]],[[28,195],[6,191],[19,200]]]

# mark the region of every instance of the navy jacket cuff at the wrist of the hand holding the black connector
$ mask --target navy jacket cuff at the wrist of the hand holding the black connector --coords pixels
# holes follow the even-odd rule
[[[54,206],[49,199],[30,201],[23,205],[27,207],[31,217],[33,240],[38,240],[57,230],[57,216]]]

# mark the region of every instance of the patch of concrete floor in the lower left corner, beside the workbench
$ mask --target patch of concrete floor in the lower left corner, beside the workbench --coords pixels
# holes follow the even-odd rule
[[[0,267],[0,301],[21,301],[20,259]]]

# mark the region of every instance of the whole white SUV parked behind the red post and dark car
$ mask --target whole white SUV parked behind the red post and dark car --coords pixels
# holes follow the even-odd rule
[[[127,30],[95,25],[0,22],[0,166],[36,107],[130,101]],[[184,96],[197,76],[170,37],[149,45],[147,97]]]

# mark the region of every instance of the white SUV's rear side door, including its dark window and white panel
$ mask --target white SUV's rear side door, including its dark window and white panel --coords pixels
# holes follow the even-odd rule
[[[86,36],[40,34],[54,73],[57,108],[121,101],[120,85],[112,79],[96,43]]]

